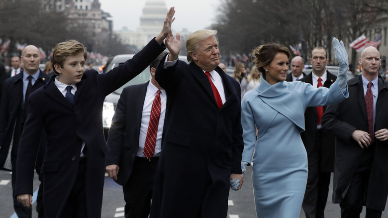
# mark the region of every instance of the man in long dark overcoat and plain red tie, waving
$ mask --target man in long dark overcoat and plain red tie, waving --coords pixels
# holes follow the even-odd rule
[[[150,218],[226,217],[230,181],[242,185],[240,85],[218,67],[216,33],[189,36],[189,65],[177,60],[179,33],[166,39],[155,78],[169,104]]]

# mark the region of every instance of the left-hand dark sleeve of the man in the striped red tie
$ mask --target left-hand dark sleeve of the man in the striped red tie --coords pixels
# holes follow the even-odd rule
[[[121,93],[120,99],[117,102],[116,110],[112,117],[112,124],[108,133],[108,146],[109,152],[106,154],[106,165],[120,163],[120,156],[122,153],[122,147],[125,137],[125,123],[126,123],[126,111],[127,111],[127,91]]]

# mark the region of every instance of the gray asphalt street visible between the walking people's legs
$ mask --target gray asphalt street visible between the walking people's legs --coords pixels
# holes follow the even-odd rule
[[[230,190],[227,218],[256,218],[251,173],[251,167],[247,167],[247,172],[244,175],[244,184],[241,190]],[[0,170],[0,218],[17,218],[13,211],[10,180],[10,172]],[[38,182],[37,176],[35,176],[34,190],[38,188]],[[330,184],[325,217],[340,218],[339,205],[331,203],[331,194],[332,183]],[[124,204],[121,186],[117,185],[109,177],[105,177],[101,218],[123,218]],[[37,213],[35,212],[36,203],[32,206],[32,218],[37,218]],[[365,217],[365,208],[360,217]],[[300,212],[299,218],[305,218],[303,211]],[[388,212],[383,212],[383,218],[388,218]]]

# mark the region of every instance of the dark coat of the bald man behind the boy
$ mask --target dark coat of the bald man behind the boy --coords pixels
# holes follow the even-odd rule
[[[32,86],[34,92],[44,86],[49,77],[43,71],[39,71],[39,78]],[[17,155],[19,140],[22,131],[23,118],[23,73],[7,79],[4,83],[3,95],[0,104],[0,168],[4,166],[9,148],[12,144],[12,155]],[[45,146],[45,140],[42,140],[41,147]],[[42,150],[43,152],[44,150]],[[41,163],[40,163],[41,165]]]

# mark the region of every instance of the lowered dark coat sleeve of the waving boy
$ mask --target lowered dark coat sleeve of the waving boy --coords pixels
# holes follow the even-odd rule
[[[31,96],[28,98],[28,103],[30,108],[17,152],[16,171],[18,173],[16,174],[15,196],[21,194],[32,195],[33,193],[35,161],[43,129],[41,109]]]

